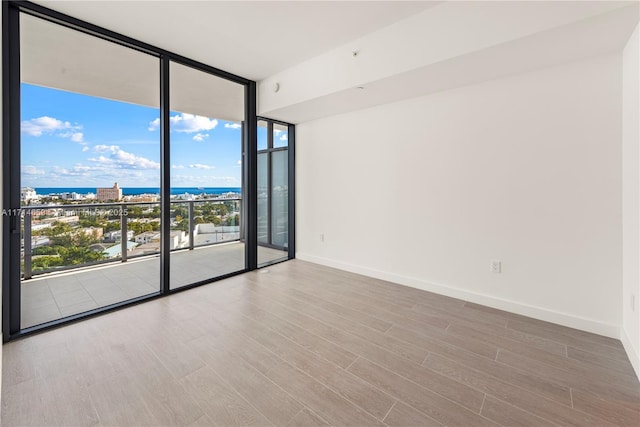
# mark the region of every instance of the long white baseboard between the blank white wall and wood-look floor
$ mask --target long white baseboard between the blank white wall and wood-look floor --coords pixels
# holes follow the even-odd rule
[[[604,335],[610,338],[620,339],[620,327],[609,323],[599,322],[597,320],[573,316],[567,313],[548,310],[542,307],[536,307],[528,304],[522,304],[515,301],[498,298],[491,295],[475,293],[464,289],[454,288],[451,286],[432,283],[426,280],[413,277],[406,277],[387,271],[376,270],[368,267],[362,267],[342,261],[329,258],[318,257],[306,254],[304,252],[296,253],[296,258],[313,262],[315,264],[325,265],[327,267],[337,268],[339,270],[349,271],[351,273],[362,274],[363,276],[373,277],[380,280],[397,283],[404,286],[433,292],[440,295],[446,295],[452,298],[458,298],[476,304],[485,305],[499,310],[509,311],[511,313],[532,317],[538,320],[555,323],[569,328],[580,329],[582,331],[591,332],[598,335]],[[634,365],[635,367],[635,365]],[[636,368],[637,372],[637,368]]]

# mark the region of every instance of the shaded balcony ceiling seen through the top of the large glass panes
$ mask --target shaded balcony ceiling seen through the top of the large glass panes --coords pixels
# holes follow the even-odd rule
[[[160,62],[150,55],[22,14],[23,82],[148,107],[160,106]],[[172,111],[240,122],[244,85],[171,63]]]

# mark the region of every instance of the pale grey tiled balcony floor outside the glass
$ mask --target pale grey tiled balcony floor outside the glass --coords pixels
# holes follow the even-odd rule
[[[286,257],[286,252],[263,247],[259,254],[261,263]],[[244,243],[173,252],[170,263],[171,286],[176,289],[244,269]],[[21,327],[149,295],[159,289],[159,256],[35,276],[22,282]]]

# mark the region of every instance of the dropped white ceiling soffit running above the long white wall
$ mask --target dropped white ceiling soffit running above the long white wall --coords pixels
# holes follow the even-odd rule
[[[430,16],[437,9],[444,11],[444,5],[438,6],[422,14],[424,19],[413,27],[407,20],[401,22],[402,29],[410,28],[404,38],[394,39],[393,34],[386,31],[390,28],[387,27],[342,49],[271,76],[259,85],[259,113],[291,123],[303,123],[545,67],[621,53],[640,19],[640,4],[633,2],[527,2],[529,9],[521,2],[511,10],[507,3],[477,3],[483,12],[495,6],[493,12],[497,13],[486,13],[485,16],[479,16],[478,10],[474,14],[466,13],[470,21],[482,22],[484,28],[480,29],[474,28],[469,20],[463,20],[463,12],[471,9],[469,3],[453,11],[453,16],[459,17],[456,20]],[[562,10],[557,7],[565,9],[564,22],[545,25],[545,20],[559,19]],[[529,22],[534,29],[522,36],[521,31],[527,24],[523,16],[531,17],[533,12],[539,15]],[[425,22],[429,19],[430,23]],[[442,22],[442,27],[434,29],[434,22]],[[518,22],[519,25],[513,27],[518,33],[502,33],[494,42],[485,46],[480,43],[478,48],[476,42],[489,34],[487,28],[497,28],[505,22]],[[431,28],[435,36],[427,34],[427,28]],[[458,44],[456,53],[455,37],[463,31],[471,37],[460,39],[462,43]],[[393,45],[403,46],[404,55],[388,48]],[[362,53],[356,58],[350,57],[353,46],[362,47]],[[372,52],[379,46],[382,46],[379,52]],[[442,57],[431,60],[429,55],[437,49],[442,49]],[[422,60],[416,59],[420,55],[423,55]],[[412,66],[403,69],[401,64],[407,59]],[[368,62],[364,64],[364,61]],[[341,70],[339,74],[330,72],[336,68]],[[385,68],[388,69],[386,75]],[[273,90],[273,82],[280,86],[277,93]]]

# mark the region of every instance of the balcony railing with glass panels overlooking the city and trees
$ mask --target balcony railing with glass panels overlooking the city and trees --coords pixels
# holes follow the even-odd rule
[[[193,250],[242,239],[241,199],[172,200],[169,248]],[[23,206],[23,280],[160,253],[160,202]]]

